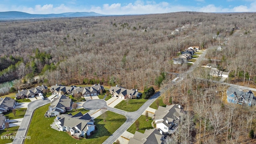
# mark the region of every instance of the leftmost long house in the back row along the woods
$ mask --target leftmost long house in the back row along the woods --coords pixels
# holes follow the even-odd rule
[[[18,93],[15,94],[16,99],[23,99],[37,96],[39,93],[45,93],[47,86],[37,86],[36,88],[31,88],[28,90],[18,90]]]

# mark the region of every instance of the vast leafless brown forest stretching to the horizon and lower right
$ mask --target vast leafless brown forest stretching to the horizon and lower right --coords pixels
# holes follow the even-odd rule
[[[0,82],[153,86],[188,112],[170,143],[250,144],[255,106],[227,104],[227,86],[200,67],[171,81],[191,66],[173,58],[199,46],[211,48],[200,65],[215,63],[229,72],[226,82],[254,86],[255,22],[256,13],[202,12],[2,21]]]

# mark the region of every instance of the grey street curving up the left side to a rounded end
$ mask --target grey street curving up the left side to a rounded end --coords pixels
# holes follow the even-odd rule
[[[46,100],[35,100],[33,102],[30,102],[30,104],[28,104],[28,109],[26,111],[26,114],[24,115],[24,118],[20,124],[20,127],[16,133],[16,136],[18,136],[18,138],[20,139],[14,139],[12,144],[22,144],[24,142],[24,139],[22,139],[23,136],[26,136],[28,127],[30,125],[30,121],[33,115],[33,112],[36,108],[39,108],[40,106],[44,106],[46,104],[49,104],[50,100],[46,99]]]

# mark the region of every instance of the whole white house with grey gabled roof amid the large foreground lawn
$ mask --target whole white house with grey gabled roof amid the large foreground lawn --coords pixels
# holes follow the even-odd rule
[[[95,131],[92,117],[88,113],[83,115],[81,112],[74,116],[71,113],[58,115],[50,126],[58,131],[70,132],[76,137],[87,137]]]

